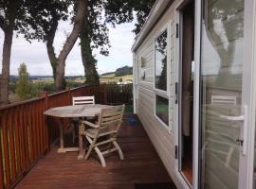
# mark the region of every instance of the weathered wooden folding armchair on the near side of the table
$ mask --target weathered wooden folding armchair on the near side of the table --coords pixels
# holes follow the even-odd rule
[[[92,150],[95,150],[99,156],[103,167],[106,166],[103,156],[108,153],[118,151],[120,160],[123,160],[117,136],[122,123],[124,107],[125,105],[121,105],[101,110],[97,124],[81,121],[79,134],[85,135],[90,144],[84,157],[85,160],[88,159]],[[85,127],[90,129],[85,129]],[[101,151],[100,147],[104,147],[104,151]]]

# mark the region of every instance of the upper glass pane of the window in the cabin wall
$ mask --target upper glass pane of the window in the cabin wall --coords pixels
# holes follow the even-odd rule
[[[155,40],[155,89],[167,91],[167,30]]]

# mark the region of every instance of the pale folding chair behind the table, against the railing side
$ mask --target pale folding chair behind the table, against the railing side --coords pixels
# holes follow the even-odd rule
[[[72,105],[87,105],[87,104],[95,104],[95,97],[94,95],[88,95],[88,96],[73,96],[72,97]],[[73,144],[75,143],[75,138],[78,137],[76,135],[77,128],[76,125],[79,125],[79,118],[73,119],[73,125],[74,128],[72,130],[73,135]]]

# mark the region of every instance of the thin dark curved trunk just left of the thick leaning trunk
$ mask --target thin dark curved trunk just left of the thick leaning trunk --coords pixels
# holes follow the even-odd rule
[[[54,17],[50,30],[47,32],[47,36],[46,36],[47,54],[48,54],[48,59],[50,61],[51,68],[52,68],[54,81],[56,80],[57,57],[54,51],[53,42],[54,42],[55,33],[57,31],[58,25],[59,25],[58,19],[57,17]]]

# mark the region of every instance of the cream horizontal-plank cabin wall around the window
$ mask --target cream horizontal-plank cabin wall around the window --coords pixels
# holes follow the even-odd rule
[[[137,104],[137,116],[142,122],[144,129],[147,131],[155,149],[160,156],[162,162],[167,168],[170,176],[174,180],[178,188],[182,188],[180,181],[175,176],[175,168],[177,160],[174,154],[174,84],[175,84],[175,7],[180,0],[174,1],[172,6],[168,8],[164,15],[157,21],[154,28],[143,40],[134,52],[135,67],[135,94]],[[168,28],[168,96],[169,96],[169,128],[165,127],[159,119],[155,117],[155,89],[154,89],[154,44],[155,38],[159,36],[164,28]],[[141,57],[145,62],[145,67],[141,68]],[[139,75],[141,70],[145,71],[145,79]]]

